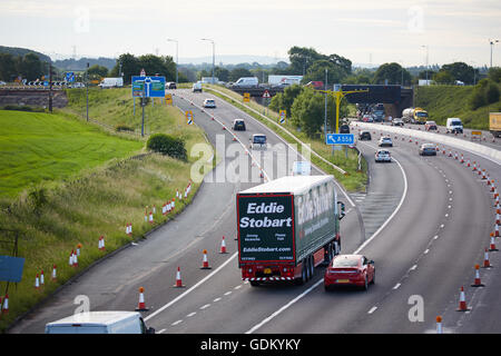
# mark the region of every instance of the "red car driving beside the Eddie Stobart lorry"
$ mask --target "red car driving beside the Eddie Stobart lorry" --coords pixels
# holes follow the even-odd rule
[[[374,284],[374,261],[363,255],[337,255],[325,269],[324,287],[330,290],[334,286],[357,286],[367,289]]]

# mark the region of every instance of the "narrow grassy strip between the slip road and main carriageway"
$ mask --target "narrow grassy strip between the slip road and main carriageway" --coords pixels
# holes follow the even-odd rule
[[[217,89],[227,96],[229,96],[233,100],[228,99],[227,97],[220,96],[214,90],[210,90],[210,88]],[[281,130],[277,128],[277,126],[271,123],[268,120],[264,119],[259,115],[256,115],[248,108],[252,108],[254,110],[257,110],[262,115],[265,115],[269,119],[274,120],[275,122],[278,122],[278,113],[275,111],[272,111],[269,109],[266,109],[257,103],[254,100],[250,100],[249,102],[244,102],[243,97],[229,89],[226,89],[222,86],[210,86],[206,85],[206,90],[209,92],[213,92],[214,95],[220,97],[222,99],[226,101],[230,101],[233,105],[235,105],[237,108],[242,109],[243,111],[247,112],[248,115],[253,116],[254,118],[258,119],[261,122],[265,123],[268,128],[274,130],[276,134],[278,134],[282,138],[284,138],[289,144],[298,145],[297,141],[291,137],[287,132]],[[323,139],[312,139],[307,137],[304,132],[296,131],[296,128],[286,122],[284,126],[288,131],[293,132],[294,136],[296,136],[299,140],[311,146],[312,150],[314,150],[316,154],[318,154],[321,157],[326,159],[327,161],[334,164],[337,167],[341,167],[343,170],[347,172],[347,175],[343,175],[336,169],[334,169],[332,166],[327,165],[320,158],[315,157],[314,155],[311,155],[312,162],[322,168],[324,171],[334,175],[338,182],[341,182],[345,189],[348,191],[364,191],[367,182],[367,164],[361,157],[361,166],[362,169],[358,171],[358,157],[357,152],[353,149],[348,149],[347,152],[347,159],[345,157],[345,151],[334,151],[332,152],[332,149],[330,146],[325,145],[325,141]],[[301,146],[297,146],[301,151]]]

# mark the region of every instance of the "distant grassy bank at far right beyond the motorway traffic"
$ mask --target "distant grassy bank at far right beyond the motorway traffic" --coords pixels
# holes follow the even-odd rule
[[[501,101],[472,110],[472,92],[471,86],[418,87],[415,106],[425,109],[430,120],[439,125],[445,125],[448,118],[460,118],[465,128],[489,130],[489,112],[501,111]]]

